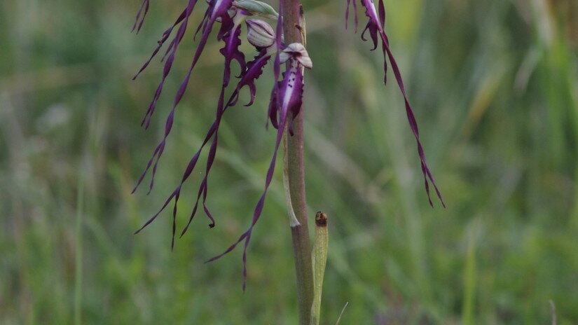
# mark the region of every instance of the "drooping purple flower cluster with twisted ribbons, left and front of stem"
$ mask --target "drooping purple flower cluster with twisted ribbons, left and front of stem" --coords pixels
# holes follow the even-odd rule
[[[170,41],[168,48],[165,50],[165,55],[163,57],[164,69],[163,69],[163,76],[161,81],[157,87],[157,90],[153,96],[151,104],[149,105],[149,109],[146,111],[146,114],[142,120],[142,125],[145,128],[149,127],[151,123],[151,117],[156,109],[156,103],[160,97],[161,92],[163,91],[163,85],[165,80],[170,73],[172,68],[172,63],[174,62],[174,57],[177,54],[177,49],[181,40],[184,37],[184,34],[188,27],[188,18],[191,17],[191,13],[195,8],[197,1],[196,0],[189,0],[188,5],[184,9],[184,11],[179,15],[179,18],[174,22],[174,24],[167,29],[163,36],[161,37],[160,41],[158,41],[158,46],[155,50],[153,50],[153,54],[151,58],[146,61],[143,67],[139,70],[138,74],[140,74],[146,67],[149,65],[153,57],[155,57],[160,48],[163,47],[165,42],[170,38],[172,34],[172,30],[179,26],[177,30],[177,34],[173,37]],[[140,29],[142,26],[142,22],[144,21],[144,15],[146,15],[147,9],[149,6],[149,0],[144,0],[141,10],[137,15],[137,22],[135,22],[135,28]],[[275,32],[270,25],[264,20],[250,18],[252,16],[259,15],[265,18],[275,18],[277,19],[277,31]],[[257,55],[254,57],[252,61],[246,62],[245,55],[239,50],[239,46],[241,43],[240,34],[242,29],[242,23],[245,22],[247,25],[247,41],[255,46],[257,50]],[[189,216],[188,222],[186,226],[184,226],[183,230],[181,230],[181,236],[186,233],[186,230],[191,224],[193,217],[195,216],[200,201],[202,197],[202,209],[204,210],[205,214],[209,218],[209,227],[214,227],[215,220],[212,216],[211,212],[209,211],[209,207],[207,207],[207,193],[208,193],[208,176],[209,172],[212,168],[214,163],[214,158],[216,155],[216,148],[219,141],[219,126],[221,123],[221,119],[223,118],[223,113],[231,106],[235,106],[239,99],[240,90],[247,86],[249,88],[249,103],[245,106],[250,106],[253,104],[255,95],[256,95],[256,86],[255,81],[261,74],[263,73],[263,68],[266,64],[270,61],[272,57],[275,57],[274,60],[274,75],[275,75],[275,84],[273,85],[273,90],[271,91],[270,97],[270,105],[268,109],[268,119],[270,120],[273,127],[277,129],[277,137],[275,142],[275,150],[273,151],[273,158],[271,159],[270,166],[267,172],[266,177],[266,184],[265,188],[263,189],[263,194],[261,195],[261,199],[257,203],[252,224],[249,229],[243,233],[239,240],[235,242],[235,244],[231,245],[223,254],[219,256],[215,256],[211,258],[209,261],[214,261],[217,258],[220,258],[224,254],[227,254],[229,251],[232,251],[237,244],[240,242],[245,242],[245,248],[243,251],[243,288],[245,288],[245,278],[247,276],[247,246],[249,244],[249,240],[251,238],[252,230],[259,220],[261,216],[261,212],[263,210],[263,205],[265,202],[266,193],[268,187],[270,185],[271,180],[273,179],[273,172],[275,170],[275,161],[277,158],[277,152],[279,151],[281,139],[284,134],[285,126],[287,125],[287,121],[289,120],[289,113],[292,113],[293,116],[296,116],[301,110],[301,97],[303,94],[303,67],[312,68],[312,62],[308,56],[307,50],[301,45],[301,43],[292,43],[288,46],[285,46],[282,43],[281,38],[281,27],[282,27],[282,16],[277,14],[273,8],[264,4],[259,1],[254,0],[210,0],[208,2],[208,8],[205,11],[205,16],[200,22],[197,27],[197,33],[201,32],[200,41],[198,44],[197,49],[195,50],[195,55],[193,56],[193,61],[191,62],[191,67],[189,67],[187,74],[184,78],[184,81],[181,83],[179,89],[177,90],[177,94],[174,98],[174,102],[172,105],[172,109],[167,117],[167,121],[165,123],[165,133],[163,139],[160,141],[158,146],[156,146],[155,150],[153,151],[153,155],[147,163],[144,172],[139,177],[137,181],[137,186],[133,190],[133,193],[137,190],[138,186],[144,180],[146,174],[151,171],[151,182],[149,185],[149,192],[153,188],[154,185],[154,177],[156,174],[158,162],[160,160],[161,155],[163,155],[163,151],[165,148],[165,144],[167,141],[167,137],[170,134],[172,129],[172,123],[174,121],[174,113],[177,108],[177,105],[181,101],[186,87],[188,85],[188,81],[191,78],[193,69],[197,64],[202,50],[205,48],[205,44],[209,39],[209,34],[211,34],[213,26],[219,23],[220,28],[219,32],[216,35],[216,39],[218,41],[222,41],[223,48],[221,48],[220,53],[224,57],[223,62],[223,81],[221,83],[221,92],[219,94],[219,99],[217,100],[216,104],[216,117],[214,122],[212,123],[211,127],[207,131],[205,139],[202,141],[202,144],[198,151],[193,155],[193,158],[189,161],[186,170],[183,174],[180,184],[174,191],[169,195],[167,200],[163,206],[159,209],[159,211],[154,214],[149,221],[144,223],[142,228],[139,228],[136,233],[139,233],[142,229],[149,225],[152,221],[156,219],[156,217],[163,212],[163,210],[173,202],[174,207],[172,209],[172,240],[171,240],[171,248],[174,247],[174,235],[176,233],[176,216],[177,216],[177,202],[179,200],[181,194],[181,187],[191,176],[198,159],[200,158],[200,153],[202,149],[211,141],[211,145],[209,147],[209,153],[207,155],[207,163],[205,166],[205,177],[202,179],[198,193],[197,193],[197,200],[195,205],[193,206],[193,210],[191,212],[191,216]],[[239,64],[241,69],[240,76],[238,76],[237,85],[235,88],[230,92],[228,100],[225,101],[226,90],[228,89],[228,85],[230,84],[230,69],[231,63],[235,61]],[[280,66],[281,64],[289,62],[287,71],[284,72],[283,78],[279,81],[280,76]],[[137,74],[137,76],[138,76]],[[135,76],[135,78],[137,78]],[[291,130],[291,125],[289,125],[289,130]]]

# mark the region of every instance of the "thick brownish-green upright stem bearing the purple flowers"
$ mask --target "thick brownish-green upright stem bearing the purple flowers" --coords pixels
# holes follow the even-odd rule
[[[297,29],[300,17],[299,0],[283,0],[283,34],[284,42],[302,43],[301,32]],[[293,136],[286,134],[287,139],[287,170],[289,174],[289,189],[291,205],[299,221],[298,226],[291,227],[293,251],[295,256],[295,272],[297,277],[297,298],[299,307],[299,324],[309,325],[311,306],[313,303],[313,267],[311,262],[311,243],[307,223],[307,208],[305,204],[305,159],[303,157],[303,109],[298,116],[291,116]]]

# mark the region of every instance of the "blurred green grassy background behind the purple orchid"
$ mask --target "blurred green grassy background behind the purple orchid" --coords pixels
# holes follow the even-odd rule
[[[577,324],[578,3],[385,4],[448,208],[427,204],[397,85],[390,76],[383,87],[379,51],[344,29],[345,0],[305,1],[315,65],[305,90],[308,204],[331,227],[322,324],[335,324],[345,302],[340,324],[548,324],[549,300],[558,324]],[[200,145],[222,69],[209,44],[156,188],[130,195],[195,46],[189,34],[145,132],[161,66],[130,78],[184,2],[151,1],[137,36],[138,6],[0,1],[0,323],[296,324],[279,170],[249,248],[247,292],[240,250],[203,263],[249,226],[263,187],[270,71],[256,104],[223,120],[207,201],[216,228],[201,212],[172,253],[170,211],[132,235]],[[179,227],[202,172],[184,189]]]

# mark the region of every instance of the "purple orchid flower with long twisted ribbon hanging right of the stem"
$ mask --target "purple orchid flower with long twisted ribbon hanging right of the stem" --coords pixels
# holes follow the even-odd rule
[[[349,18],[349,8],[351,1],[353,1],[353,10],[355,11],[355,28],[357,31],[357,2],[356,0],[348,0],[347,8],[345,10],[345,28],[347,28],[347,22]],[[429,167],[427,167],[427,163],[425,162],[425,153],[423,151],[423,147],[420,141],[420,133],[418,131],[418,122],[415,120],[415,116],[413,116],[413,111],[411,109],[411,105],[409,104],[409,99],[406,94],[406,89],[404,86],[404,81],[401,79],[401,72],[399,71],[399,67],[397,66],[397,62],[394,59],[392,51],[390,50],[390,41],[387,38],[387,34],[385,34],[385,6],[383,4],[383,0],[379,0],[379,13],[376,11],[376,6],[373,4],[373,0],[360,0],[362,6],[365,8],[365,15],[368,18],[367,25],[365,26],[364,31],[362,32],[362,39],[366,41],[364,35],[365,32],[369,31],[369,36],[371,37],[371,41],[373,41],[373,49],[375,50],[378,47],[378,39],[381,39],[381,45],[383,50],[383,83],[387,83],[387,59],[390,60],[392,65],[392,70],[397,81],[397,85],[399,85],[399,90],[401,90],[401,95],[404,95],[404,101],[406,105],[406,115],[408,118],[409,126],[411,127],[411,131],[415,137],[415,141],[418,143],[418,154],[420,155],[420,163],[422,167],[422,174],[425,183],[425,191],[427,192],[427,199],[429,200],[429,205],[432,205],[433,202],[432,198],[429,195],[429,181],[432,182],[434,189],[436,191],[436,195],[439,198],[441,205],[446,207],[446,204],[443,202],[443,198],[441,198],[441,193],[436,186],[436,182],[434,181],[434,177],[432,176],[432,172],[429,171]],[[428,181],[429,179],[429,181]]]

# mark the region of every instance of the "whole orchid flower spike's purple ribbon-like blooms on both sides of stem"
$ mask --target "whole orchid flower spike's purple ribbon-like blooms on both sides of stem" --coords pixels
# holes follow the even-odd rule
[[[196,64],[200,60],[203,50],[205,50],[205,45],[209,40],[209,36],[213,31],[214,26],[219,26],[218,32],[216,33],[216,40],[222,42],[222,48],[219,50],[221,55],[223,55],[223,78],[221,82],[221,92],[219,93],[219,98],[216,101],[216,109],[215,109],[215,118],[212,125],[209,126],[207,133],[205,135],[204,140],[198,151],[193,155],[191,160],[189,160],[188,165],[186,166],[183,176],[179,184],[174,188],[174,191],[168,195],[168,198],[165,200],[164,204],[156,214],[151,216],[151,218],[144,223],[144,226],[139,228],[136,233],[142,231],[146,226],[148,226],[151,222],[153,222],[157,216],[172,202],[173,209],[172,209],[172,240],[171,240],[171,248],[174,247],[174,237],[176,233],[177,223],[177,202],[179,201],[181,195],[181,188],[184,183],[188,180],[189,177],[193,174],[193,170],[198,163],[200,155],[202,153],[203,148],[207,146],[210,142],[210,146],[208,149],[207,154],[207,162],[205,164],[205,176],[203,177],[202,181],[200,182],[200,186],[197,191],[197,197],[195,204],[192,207],[191,215],[188,218],[188,222],[181,230],[181,236],[186,233],[188,227],[191,225],[193,221],[193,217],[195,216],[196,212],[202,205],[202,210],[205,212],[207,218],[209,219],[209,227],[212,228],[215,226],[215,219],[207,203],[207,196],[208,196],[208,177],[210,171],[212,170],[212,166],[214,160],[216,158],[216,150],[219,144],[219,127],[221,125],[221,120],[224,116],[224,113],[230,107],[233,107],[237,104],[240,91],[242,88],[249,89],[249,102],[245,106],[251,106],[254,103],[256,98],[256,79],[258,79],[263,74],[263,69],[265,68],[268,62],[273,61],[273,89],[270,92],[270,103],[268,108],[268,122],[277,129],[276,137],[275,137],[275,148],[273,149],[273,156],[270,160],[270,165],[266,174],[266,181],[265,186],[263,188],[263,192],[261,194],[261,198],[256,204],[256,207],[253,212],[253,218],[251,222],[251,226],[249,226],[248,230],[245,233],[240,235],[239,239],[232,244],[226,251],[222,254],[215,256],[214,258],[209,259],[209,261],[214,261],[221,256],[227,254],[230,251],[233,251],[235,247],[240,244],[240,242],[244,242],[244,249],[243,249],[243,289],[245,289],[246,278],[247,278],[247,247],[249,245],[249,241],[251,239],[252,230],[259,218],[261,217],[261,213],[263,212],[263,207],[265,204],[265,198],[270,186],[271,181],[273,180],[273,173],[275,171],[275,162],[277,158],[277,153],[280,148],[280,144],[284,135],[292,135],[293,129],[291,125],[291,121],[294,120],[299,113],[301,113],[301,106],[303,101],[303,72],[304,69],[312,69],[313,64],[312,60],[308,54],[308,51],[305,49],[302,43],[291,43],[289,45],[284,44],[282,39],[282,1],[280,0],[280,12],[277,13],[271,6],[265,4],[261,1],[257,0],[207,0],[207,8],[205,10],[205,14],[203,15],[202,20],[198,22],[196,28],[196,34],[200,33],[200,40],[198,41],[198,46],[195,50],[195,53],[191,59],[191,65],[186,71],[185,77],[181,82],[180,87],[178,88],[176,94],[174,95],[174,100],[172,103],[172,109],[168,113],[168,116],[165,121],[165,129],[163,138],[156,146],[153,151],[149,162],[147,163],[144,172],[140,175],[137,185],[133,190],[133,193],[137,190],[142,181],[144,181],[144,177],[146,174],[151,174],[151,181],[149,184],[149,193],[153,189],[154,185],[154,177],[156,174],[156,170],[158,168],[158,163],[163,155],[165,150],[165,145],[167,142],[167,137],[169,136],[172,126],[174,123],[174,118],[176,116],[176,109],[181,99],[186,92],[186,88],[188,86],[188,82],[190,81],[193,70],[196,67]],[[354,9],[357,8],[356,1],[357,0],[348,0],[348,11],[350,2],[353,1]],[[409,124],[413,134],[415,135],[415,139],[418,142],[418,153],[420,155],[421,160],[421,167],[422,172],[424,174],[425,179],[425,188],[428,193],[429,197],[429,181],[433,184],[435,191],[441,200],[441,194],[438,191],[438,188],[434,182],[432,177],[432,173],[429,171],[427,164],[425,162],[425,154],[423,152],[422,145],[420,143],[420,138],[418,134],[418,125],[415,122],[415,117],[413,116],[413,111],[411,110],[411,106],[408,102],[408,97],[406,95],[406,91],[404,88],[404,83],[401,80],[401,73],[399,68],[397,67],[397,63],[394,60],[394,57],[390,50],[390,43],[389,39],[387,39],[387,35],[385,34],[385,7],[383,6],[383,0],[379,0],[379,11],[376,11],[375,6],[373,5],[372,0],[359,0],[361,1],[362,6],[366,8],[366,16],[368,18],[367,25],[362,33],[362,39],[365,40],[364,34],[369,31],[369,35],[371,36],[371,40],[373,41],[373,48],[376,49],[378,46],[378,41],[381,39],[382,50],[384,55],[384,81],[385,76],[387,75],[387,59],[389,59],[390,64],[392,65],[392,69],[394,71],[394,76],[397,80],[399,88],[401,90],[402,95],[404,96],[405,103],[406,103],[406,113],[408,116]],[[202,4],[205,1],[200,1]],[[165,81],[167,76],[170,74],[172,70],[172,66],[174,60],[177,56],[177,52],[179,50],[179,46],[181,41],[184,39],[184,35],[189,26],[189,20],[193,15],[193,11],[195,6],[197,5],[198,0],[187,0],[186,6],[183,8],[180,15],[174,21],[172,26],[170,26],[160,37],[156,48],[154,48],[153,53],[149,60],[147,60],[139,69],[135,78],[139,76],[139,74],[149,66],[151,61],[153,60],[156,55],[160,52],[160,49],[167,45],[165,49],[163,58],[161,62],[163,63],[162,74],[160,77],[160,82],[156,88],[156,92],[153,94],[153,98],[151,99],[151,103],[149,104],[148,109],[144,115],[142,120],[142,125],[145,128],[148,128],[151,124],[151,119],[153,113],[156,111],[156,104],[160,99],[160,95],[163,92],[163,87],[165,85]],[[136,29],[137,32],[141,29],[142,24],[144,22],[144,18],[146,13],[149,9],[149,0],[143,0],[142,5],[139,9],[139,13],[137,14],[137,18],[135,20],[135,25],[133,29]],[[348,12],[346,13],[346,17]],[[260,18],[268,18],[268,19],[276,19],[277,25],[275,30],[271,27],[268,22],[260,19],[256,19],[259,16]],[[356,15],[356,25],[357,25],[357,15]],[[245,22],[245,24],[243,24]],[[253,60],[247,62],[245,60],[245,53],[240,50],[241,45],[241,35],[242,29],[246,25],[247,28],[247,41],[255,47],[256,53],[253,53],[254,57]],[[178,27],[178,28],[177,28]],[[177,32],[172,36],[173,30],[177,28]],[[271,60],[274,58],[273,60]],[[285,71],[281,74],[281,65],[284,63],[288,63],[286,66]],[[231,78],[231,66],[235,64],[238,65],[240,68],[240,75],[237,76],[236,83],[233,82],[234,87],[229,87],[231,83],[231,79],[235,81],[234,78]],[[289,134],[284,134],[285,130],[289,132]],[[202,199],[201,199],[202,198]],[[432,204],[431,199],[429,200],[430,204]],[[441,201],[443,205],[443,200]],[[445,205],[444,205],[445,206]]]

